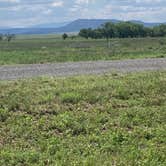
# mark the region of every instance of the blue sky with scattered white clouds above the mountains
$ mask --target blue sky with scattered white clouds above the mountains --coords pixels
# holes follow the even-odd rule
[[[28,27],[78,18],[166,22],[166,0],[0,0],[0,27]]]

